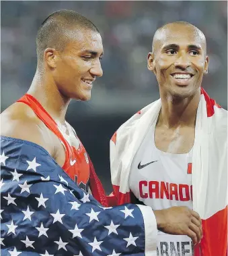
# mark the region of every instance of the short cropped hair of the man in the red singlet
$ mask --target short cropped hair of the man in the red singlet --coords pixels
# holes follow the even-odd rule
[[[54,48],[63,51],[69,41],[67,34],[71,30],[89,29],[99,32],[98,28],[76,11],[63,9],[50,14],[44,22],[42,22],[36,36],[36,54],[38,63],[43,59],[46,48]]]

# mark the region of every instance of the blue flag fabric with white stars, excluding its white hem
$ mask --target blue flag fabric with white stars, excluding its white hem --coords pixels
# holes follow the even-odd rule
[[[137,205],[102,207],[42,147],[1,136],[1,255],[145,255]]]

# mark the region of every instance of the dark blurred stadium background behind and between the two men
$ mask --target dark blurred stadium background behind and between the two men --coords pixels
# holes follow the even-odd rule
[[[204,32],[210,64],[202,85],[227,109],[227,1],[1,1],[1,111],[28,90],[36,71],[36,32],[59,9],[78,11],[102,34],[104,76],[96,80],[91,101],[71,101],[67,121],[107,193],[112,190],[112,134],[159,98],[155,76],[147,70],[147,53],[159,26],[184,20]]]

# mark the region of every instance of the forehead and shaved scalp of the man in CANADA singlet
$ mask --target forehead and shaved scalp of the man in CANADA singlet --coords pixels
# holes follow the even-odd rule
[[[167,45],[188,47],[195,45],[206,53],[204,34],[193,25],[169,24],[157,30],[153,37],[153,53],[161,51]]]

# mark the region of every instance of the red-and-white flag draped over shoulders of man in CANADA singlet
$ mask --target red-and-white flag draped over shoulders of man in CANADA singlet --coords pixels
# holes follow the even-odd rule
[[[116,198],[116,205],[131,201],[130,165],[160,109],[160,99],[147,105],[122,124],[110,141],[112,198]],[[227,111],[202,88],[192,155],[192,190],[193,209],[199,213],[203,228],[194,256],[227,255]]]

